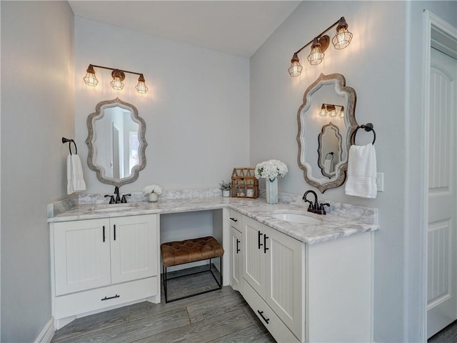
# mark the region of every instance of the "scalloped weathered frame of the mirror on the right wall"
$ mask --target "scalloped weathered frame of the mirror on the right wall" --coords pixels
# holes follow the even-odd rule
[[[318,179],[317,177],[313,177],[311,165],[306,161],[302,162],[303,154],[306,151],[306,142],[304,139],[306,125],[304,118],[302,120],[302,116],[304,116],[306,113],[302,114],[302,112],[306,112],[311,106],[311,95],[314,92],[318,91],[321,86],[328,84],[334,84],[337,93],[344,94],[347,97],[347,103],[344,107],[346,109],[346,132],[344,134],[342,133],[343,141],[341,142],[342,148],[346,149],[346,161],[338,165],[335,171],[335,176],[331,179]],[[321,191],[321,193],[325,192],[327,189],[340,187],[346,180],[346,170],[348,169],[347,159],[349,148],[351,147],[351,134],[353,131],[356,131],[358,126],[355,117],[355,110],[356,91],[353,88],[346,86],[346,79],[341,74],[321,74],[318,79],[316,79],[316,81],[311,84],[311,86],[308,86],[305,93],[303,94],[303,104],[301,104],[297,112],[298,134],[296,139],[298,141],[298,166],[303,170],[303,177],[306,183],[316,187],[319,191]]]

